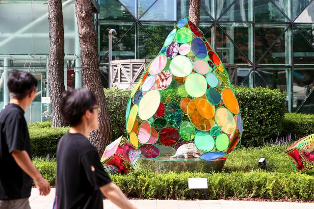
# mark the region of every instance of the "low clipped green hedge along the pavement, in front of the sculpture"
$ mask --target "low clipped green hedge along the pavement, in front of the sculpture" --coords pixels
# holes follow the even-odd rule
[[[33,162],[51,185],[55,181],[55,159],[35,158]],[[128,175],[110,175],[128,197],[141,199],[187,199],[190,198],[188,178],[208,179],[208,198],[293,198],[314,200],[314,176],[301,173],[278,173],[253,170],[251,172],[221,173],[167,173],[149,171],[132,172]],[[195,198],[203,193],[196,191]]]

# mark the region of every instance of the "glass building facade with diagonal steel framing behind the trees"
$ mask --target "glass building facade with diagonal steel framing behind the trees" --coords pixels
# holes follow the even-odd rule
[[[152,59],[175,23],[188,16],[189,0],[98,0],[95,14],[99,63],[108,86],[108,31],[113,60]],[[74,0],[62,0],[65,85],[80,87]],[[47,120],[49,23],[46,0],[0,0],[0,109],[12,69],[38,79],[28,122]],[[201,30],[223,63],[237,65],[238,85],[287,91],[287,111],[314,113],[314,0],[201,0]],[[302,112],[302,111],[301,111]]]

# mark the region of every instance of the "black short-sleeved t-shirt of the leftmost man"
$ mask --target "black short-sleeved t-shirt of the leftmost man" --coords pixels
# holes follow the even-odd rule
[[[31,157],[24,110],[17,104],[8,104],[0,112],[0,200],[30,196],[32,179],[12,157],[13,150],[25,150]]]

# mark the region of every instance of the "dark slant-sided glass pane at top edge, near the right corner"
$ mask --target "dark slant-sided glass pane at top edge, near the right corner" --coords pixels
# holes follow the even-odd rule
[[[256,22],[288,22],[271,0],[254,0]]]

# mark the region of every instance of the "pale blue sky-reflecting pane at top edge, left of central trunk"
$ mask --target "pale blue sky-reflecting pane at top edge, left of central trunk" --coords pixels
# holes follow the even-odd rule
[[[176,0],[157,0],[140,20],[175,21]]]

